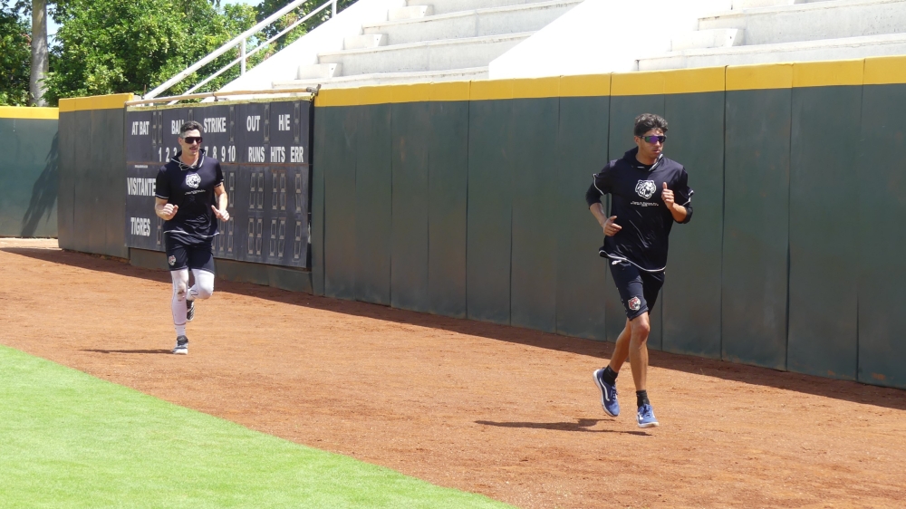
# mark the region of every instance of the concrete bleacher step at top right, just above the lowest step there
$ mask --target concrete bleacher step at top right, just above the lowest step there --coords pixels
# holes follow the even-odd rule
[[[825,0],[699,18],[699,30],[717,28],[745,30],[747,45],[901,34],[906,0]]]

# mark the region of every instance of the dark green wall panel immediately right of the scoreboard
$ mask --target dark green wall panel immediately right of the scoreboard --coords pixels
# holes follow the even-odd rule
[[[323,108],[320,115],[329,133],[316,156],[324,175],[324,294],[354,299],[358,109]]]

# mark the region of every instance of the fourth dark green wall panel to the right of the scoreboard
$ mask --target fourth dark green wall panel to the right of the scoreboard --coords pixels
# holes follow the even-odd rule
[[[429,107],[428,311],[465,318],[469,103]]]

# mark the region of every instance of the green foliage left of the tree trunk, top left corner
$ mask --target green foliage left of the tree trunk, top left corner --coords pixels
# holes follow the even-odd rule
[[[28,24],[14,9],[0,4],[0,105],[28,104],[31,65]]]

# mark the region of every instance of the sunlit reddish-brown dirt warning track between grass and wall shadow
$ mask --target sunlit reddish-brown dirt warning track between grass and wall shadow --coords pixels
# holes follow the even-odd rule
[[[906,500],[906,391],[653,351],[641,430],[610,343],[220,280],[175,356],[169,274],[55,245],[0,239],[0,342],[300,444],[522,507]]]

